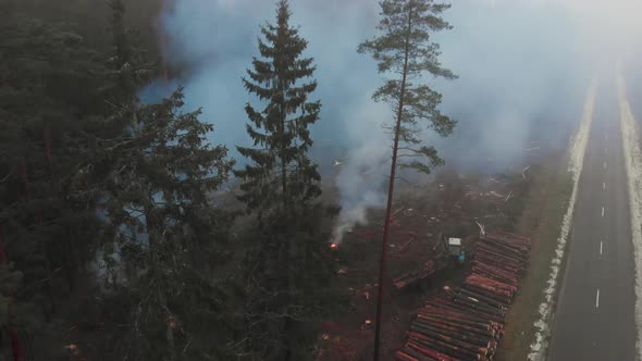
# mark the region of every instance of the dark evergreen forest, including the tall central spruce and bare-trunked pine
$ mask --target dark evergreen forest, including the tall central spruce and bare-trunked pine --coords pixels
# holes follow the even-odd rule
[[[186,71],[156,28],[171,5],[0,0],[0,360],[314,360],[321,323],[350,312],[341,207],[309,157],[323,99],[306,24],[287,0],[257,24],[237,74],[249,142],[233,152],[181,85],[140,100]],[[386,227],[395,171],[443,164],[421,133],[456,124],[423,82],[456,78],[430,37],[447,9],[382,1],[354,49],[387,76]]]

